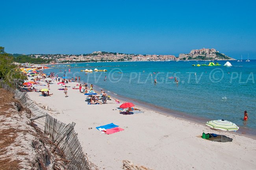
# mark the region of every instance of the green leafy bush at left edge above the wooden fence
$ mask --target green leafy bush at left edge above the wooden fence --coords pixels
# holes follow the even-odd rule
[[[23,82],[26,76],[20,72],[18,66],[13,64],[13,56],[0,47],[0,79],[4,80],[10,86],[15,86],[15,82]]]

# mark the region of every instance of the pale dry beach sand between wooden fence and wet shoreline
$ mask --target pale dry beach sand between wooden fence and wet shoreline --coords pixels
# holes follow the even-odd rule
[[[53,83],[50,97],[39,96],[41,93],[37,92],[28,94],[37,104],[48,105],[52,110],[49,114],[59,121],[76,123],[74,128],[84,153],[100,170],[122,169],[123,160],[154,170],[253,170],[256,167],[254,139],[223,131],[232,142],[209,141],[200,137],[203,132],[221,132],[145,108],[143,113],[123,115],[116,109],[121,104],[113,99],[107,104],[88,105],[85,95],[72,89],[78,83],[67,84],[71,86],[69,97],[65,97],[63,90],[57,90],[61,85]],[[95,128],[109,123],[119,125],[124,131],[107,135]]]

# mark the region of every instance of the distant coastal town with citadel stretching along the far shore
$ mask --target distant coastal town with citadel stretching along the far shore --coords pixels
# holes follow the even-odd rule
[[[50,60],[50,64],[62,62],[116,62],[116,61],[178,61],[178,60],[234,60],[214,48],[192,49],[190,53],[174,55],[123,54],[105,51],[94,51],[90,54],[30,54],[32,58]]]

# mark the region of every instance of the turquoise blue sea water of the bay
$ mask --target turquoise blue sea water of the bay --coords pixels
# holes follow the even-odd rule
[[[222,66],[211,67],[192,66],[209,63],[204,61],[76,63],[78,66],[70,64],[70,72],[68,68],[47,69],[45,72],[54,71],[63,76],[64,70],[67,70],[67,77],[80,76],[81,81],[95,84],[117,95],[193,117],[225,119],[240,127],[256,130],[256,60],[230,61],[232,67],[224,67],[225,62],[219,61]],[[73,68],[85,67],[85,64],[91,68]],[[108,71],[87,75],[80,71],[95,68]],[[179,83],[176,84],[169,77],[177,77]],[[156,84],[154,79],[157,79]],[[244,110],[249,115],[247,122],[243,121]]]

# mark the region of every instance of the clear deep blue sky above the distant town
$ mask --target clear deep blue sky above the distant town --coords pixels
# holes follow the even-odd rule
[[[256,59],[255,0],[5,0],[7,53],[189,53]]]

